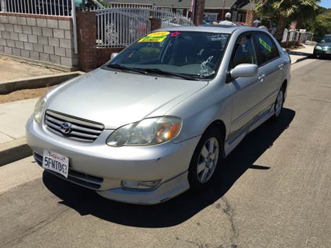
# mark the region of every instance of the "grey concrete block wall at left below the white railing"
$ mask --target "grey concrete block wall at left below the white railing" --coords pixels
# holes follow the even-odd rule
[[[78,65],[78,58],[74,54],[72,19],[0,13],[1,53],[73,70]]]

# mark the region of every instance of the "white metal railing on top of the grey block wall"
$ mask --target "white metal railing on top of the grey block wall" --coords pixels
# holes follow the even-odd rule
[[[0,0],[0,12],[70,17],[72,0]]]

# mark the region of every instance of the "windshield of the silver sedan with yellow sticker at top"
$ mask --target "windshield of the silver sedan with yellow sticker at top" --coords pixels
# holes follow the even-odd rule
[[[230,34],[210,32],[152,32],[106,65],[145,74],[211,79],[223,57]]]

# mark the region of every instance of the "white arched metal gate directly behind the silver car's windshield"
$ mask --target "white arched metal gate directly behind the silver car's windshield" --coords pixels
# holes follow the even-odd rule
[[[161,19],[161,28],[192,25],[183,14],[152,5],[118,3],[92,11],[97,15],[97,48],[130,45],[151,31],[150,17]]]

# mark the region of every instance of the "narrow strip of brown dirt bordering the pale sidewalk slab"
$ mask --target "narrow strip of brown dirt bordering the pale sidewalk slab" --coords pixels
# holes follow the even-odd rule
[[[29,89],[29,90],[17,90],[10,94],[0,94],[0,104],[9,103],[11,101],[19,101],[23,99],[34,99],[43,96],[43,94],[46,94],[46,92],[48,92],[48,90],[50,90],[52,87],[43,87],[39,89]]]

